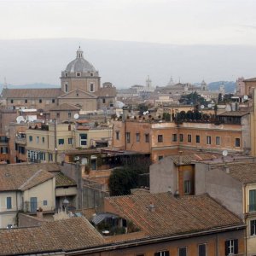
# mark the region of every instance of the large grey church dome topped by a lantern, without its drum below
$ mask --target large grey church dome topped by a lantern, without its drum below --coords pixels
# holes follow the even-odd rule
[[[95,73],[96,69],[93,67],[89,61],[84,60],[83,51],[80,49],[77,50],[77,57],[75,60],[71,61],[66,69],[65,72],[67,73]]]

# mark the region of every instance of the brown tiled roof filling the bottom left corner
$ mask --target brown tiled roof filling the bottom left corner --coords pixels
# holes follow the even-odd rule
[[[46,253],[96,247],[103,237],[86,218],[69,218],[40,227],[0,230],[0,255]]]

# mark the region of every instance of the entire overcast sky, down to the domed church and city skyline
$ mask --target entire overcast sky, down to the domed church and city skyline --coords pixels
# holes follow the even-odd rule
[[[60,84],[79,44],[117,87],[256,76],[256,0],[0,0],[0,10],[0,84]]]

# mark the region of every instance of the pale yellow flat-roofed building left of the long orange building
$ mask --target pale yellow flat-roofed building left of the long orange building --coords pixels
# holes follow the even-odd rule
[[[49,123],[26,130],[29,162],[62,162],[65,152],[73,148],[104,147],[110,144],[112,128],[97,127],[87,121],[76,125]]]

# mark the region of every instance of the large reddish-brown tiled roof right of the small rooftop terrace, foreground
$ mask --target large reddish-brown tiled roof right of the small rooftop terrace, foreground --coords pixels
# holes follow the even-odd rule
[[[208,195],[175,198],[172,194],[126,195],[106,199],[120,217],[147,236],[174,236],[242,224],[240,218]],[[155,212],[149,210],[154,205]]]

